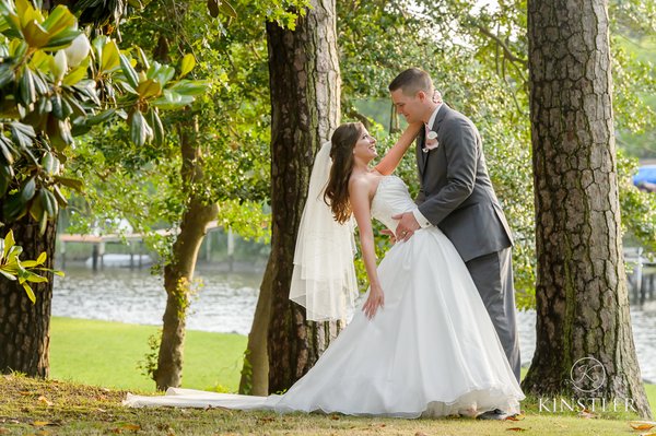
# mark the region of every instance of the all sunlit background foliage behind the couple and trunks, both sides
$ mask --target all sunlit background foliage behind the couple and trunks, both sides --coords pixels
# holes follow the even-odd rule
[[[302,12],[306,4],[274,2],[269,7],[250,0],[234,1],[234,14],[214,20],[204,1],[184,5],[165,1],[165,7],[150,5],[124,25],[126,40],[159,61],[179,64],[178,78],[192,76],[209,84],[208,92],[197,96],[192,114],[172,111],[161,121],[163,126],[175,126],[197,116],[196,139],[201,144],[204,174],[203,182],[195,188],[197,193],[219,202],[218,220],[222,225],[262,240],[269,235],[266,204],[271,123],[263,24],[277,21],[293,27],[293,11]],[[651,126],[656,125],[653,111],[645,109],[645,101],[654,95],[654,73],[648,63],[652,58],[625,48],[631,44],[619,43],[643,40],[645,30],[653,28],[654,16],[646,13],[653,11],[653,0],[641,5],[635,1],[610,3],[620,144],[628,141],[626,134],[633,134],[626,132],[649,134]],[[386,130],[398,123],[390,116],[387,84],[410,66],[427,70],[445,101],[478,126],[492,181],[515,234],[518,304],[531,307],[535,219],[526,1],[504,0],[481,8],[475,0],[440,4],[418,0],[412,5],[405,1],[356,0],[337,2],[337,12],[343,120],[367,119],[370,130],[379,140],[379,150],[393,144],[396,137]],[[191,59],[196,68],[187,73]],[[150,123],[149,117],[144,118]],[[186,201],[180,195],[177,139],[166,133],[160,145],[138,148],[126,145],[128,134],[125,127],[106,127],[79,146],[83,157],[69,170],[71,176],[89,181],[89,197],[86,203],[78,203],[78,216],[84,216],[89,225],[128,217],[138,229],[177,226]],[[621,172],[632,170],[620,165],[621,157],[618,162]],[[397,174],[415,193],[419,182],[413,153],[408,153]],[[632,187],[628,175],[620,175],[623,225],[636,243],[653,244],[653,198]],[[376,227],[376,233],[379,229]],[[171,240],[153,237],[164,251]],[[378,237],[377,247],[382,255],[388,248],[387,237]],[[362,266],[359,271],[364,279]]]

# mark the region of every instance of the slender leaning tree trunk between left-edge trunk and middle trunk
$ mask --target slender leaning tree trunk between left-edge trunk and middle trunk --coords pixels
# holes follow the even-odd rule
[[[173,245],[173,257],[164,268],[166,309],[162,328],[162,342],[157,368],[153,378],[157,389],[179,387],[183,373],[186,313],[198,250],[207,233],[208,223],[219,212],[215,203],[199,197],[202,182],[202,155],[198,144],[198,125],[180,126],[179,140],[183,155],[181,177],[188,202],[180,222],[180,233]]]

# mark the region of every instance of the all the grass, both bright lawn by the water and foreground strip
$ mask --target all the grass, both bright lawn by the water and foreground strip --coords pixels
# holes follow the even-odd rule
[[[629,415],[539,412],[523,403],[522,421],[395,420],[343,415],[238,412],[220,409],[126,409],[126,392],[153,392],[137,363],[155,327],[54,318],[51,378],[0,376],[0,435],[641,435]],[[235,391],[246,338],[188,331],[184,387]],[[656,385],[646,386],[656,416]],[[656,428],[652,429],[654,432]]]

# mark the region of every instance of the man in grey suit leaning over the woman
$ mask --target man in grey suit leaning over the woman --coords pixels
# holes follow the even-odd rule
[[[389,92],[408,122],[425,125],[417,141],[419,209],[395,216],[400,220],[396,238],[408,240],[430,225],[444,232],[462,257],[519,381],[513,237],[488,175],[481,137],[469,118],[435,103],[433,82],[423,70],[401,72]]]

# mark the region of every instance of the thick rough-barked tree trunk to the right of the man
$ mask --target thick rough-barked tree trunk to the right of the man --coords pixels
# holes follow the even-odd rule
[[[624,279],[607,4],[529,0],[528,35],[538,320],[523,388],[629,399],[648,416]],[[572,381],[589,357],[602,369]]]

